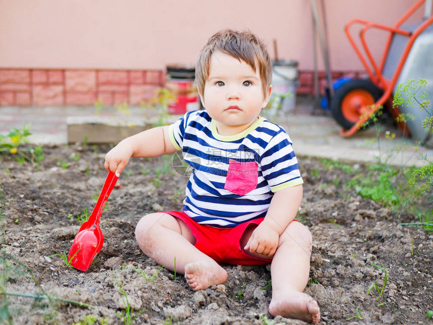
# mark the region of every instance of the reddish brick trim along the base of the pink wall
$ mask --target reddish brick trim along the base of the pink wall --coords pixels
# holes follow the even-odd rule
[[[332,79],[359,77],[364,71],[333,71]],[[319,71],[319,91],[326,75]],[[314,73],[299,71],[298,94],[314,94]],[[164,87],[162,70],[0,68],[0,106],[140,105]]]

